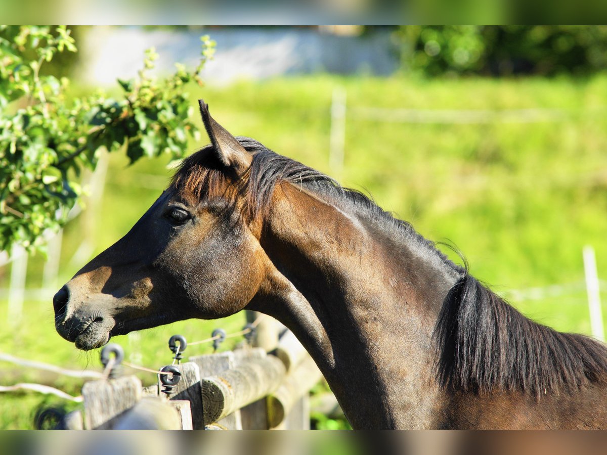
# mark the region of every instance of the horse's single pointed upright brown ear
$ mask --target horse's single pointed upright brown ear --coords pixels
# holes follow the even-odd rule
[[[253,161],[251,154],[240,145],[239,141],[228,130],[211,117],[209,106],[205,104],[205,101],[198,99],[198,106],[200,106],[200,116],[202,116],[202,121],[205,124],[206,132],[211,139],[217,158],[226,166],[235,167],[239,171],[248,169],[251,166],[251,161]]]

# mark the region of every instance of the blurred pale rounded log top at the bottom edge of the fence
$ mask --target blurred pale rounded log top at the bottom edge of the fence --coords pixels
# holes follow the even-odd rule
[[[114,430],[180,430],[177,409],[168,401],[145,397],[115,419]]]

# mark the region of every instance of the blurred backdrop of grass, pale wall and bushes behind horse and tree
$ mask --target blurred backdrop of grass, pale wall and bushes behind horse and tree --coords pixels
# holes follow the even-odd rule
[[[591,302],[607,300],[607,27],[70,29],[78,53],[58,55],[47,71],[69,76],[72,96],[117,92],[117,78],[137,75],[149,47],[160,55],[158,75],[175,62],[195,66],[199,37],[210,35],[217,45],[205,86],[184,87],[192,103],[204,98],[235,135],[361,189],[425,237],[454,244],[472,274],[525,315],[601,336],[588,286]],[[189,149],[206,143],[203,135]],[[124,153],[102,156],[83,174],[89,197],[50,238],[47,258],[0,255],[1,352],[100,367],[97,351],[77,351],[56,334],[51,298],[161,194],[169,158],[129,166]],[[115,342],[131,362],[157,368],[171,359],[172,334],[205,338],[243,324],[241,314],[191,320]],[[154,374],[140,377],[155,382]],[[0,361],[0,385],[16,382],[73,395],[81,386]],[[0,428],[31,428],[36,409],[53,404],[66,406],[56,397],[4,394]],[[316,428],[347,427],[320,411],[313,419]]]

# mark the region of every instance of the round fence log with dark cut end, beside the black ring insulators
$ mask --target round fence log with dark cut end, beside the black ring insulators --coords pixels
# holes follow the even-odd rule
[[[274,356],[242,362],[234,369],[201,380],[205,423],[213,423],[273,393],[285,376]]]

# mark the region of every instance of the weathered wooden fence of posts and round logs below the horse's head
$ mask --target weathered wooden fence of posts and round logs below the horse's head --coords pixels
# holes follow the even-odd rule
[[[159,374],[158,383],[152,386],[144,387],[136,376],[117,376],[114,366],[107,379],[84,383],[84,410],[67,414],[61,426],[310,428],[309,393],[322,374],[291,331],[278,330],[274,320],[265,319],[266,323],[256,328],[253,346],[242,343],[234,351],[189,357],[187,362],[174,365],[178,374]],[[176,383],[167,388],[162,376],[164,383]]]

